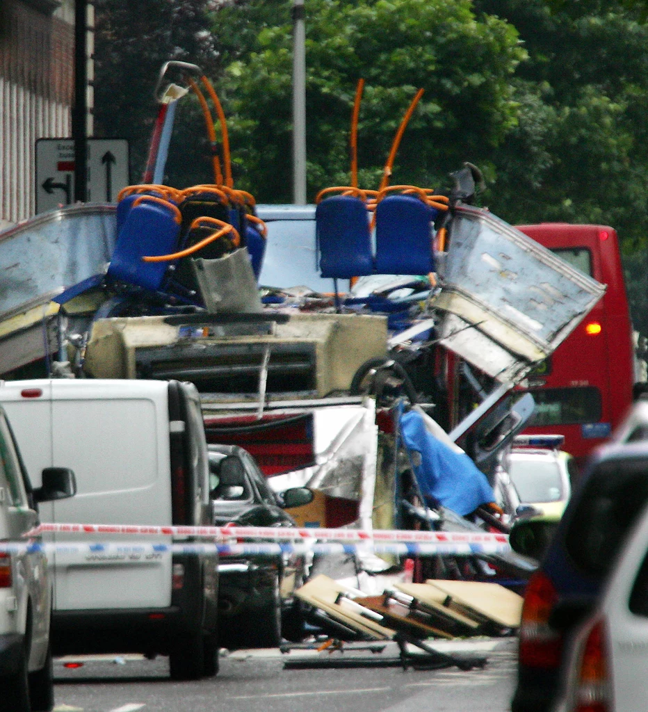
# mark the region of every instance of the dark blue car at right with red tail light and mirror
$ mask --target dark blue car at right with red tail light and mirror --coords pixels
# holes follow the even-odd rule
[[[553,538],[543,518],[511,532],[518,553],[540,555],[546,548],[526,587],[513,712],[554,709],[565,651],[648,503],[648,440],[628,440],[606,446],[590,461]]]

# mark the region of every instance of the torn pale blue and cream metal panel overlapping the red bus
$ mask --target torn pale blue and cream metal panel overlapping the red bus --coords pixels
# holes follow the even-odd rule
[[[605,286],[487,210],[456,206],[441,293],[441,343],[501,381],[545,359]]]

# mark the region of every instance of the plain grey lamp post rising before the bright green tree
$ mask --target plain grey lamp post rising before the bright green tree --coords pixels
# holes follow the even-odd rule
[[[293,203],[306,204],[306,48],[304,0],[293,0]]]

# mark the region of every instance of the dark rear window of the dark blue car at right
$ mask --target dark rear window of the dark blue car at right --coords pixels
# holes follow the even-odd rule
[[[647,459],[600,462],[582,488],[565,533],[565,548],[576,565],[604,576],[647,501]]]

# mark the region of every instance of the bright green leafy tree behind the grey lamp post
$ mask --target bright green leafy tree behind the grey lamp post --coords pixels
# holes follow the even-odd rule
[[[288,0],[281,6],[251,0],[215,14],[215,31],[229,29],[219,91],[241,174],[237,185],[261,201],[291,197],[290,6]],[[367,83],[358,140],[360,183],[367,188],[380,182],[392,138],[417,88],[426,93],[402,142],[392,182],[432,187],[464,160],[486,160],[516,125],[511,77],[526,53],[510,23],[485,14],[476,18],[469,0],[308,0],[306,6],[311,198],[320,188],[349,181],[348,135],[358,78]]]

